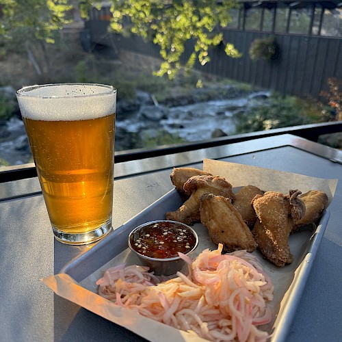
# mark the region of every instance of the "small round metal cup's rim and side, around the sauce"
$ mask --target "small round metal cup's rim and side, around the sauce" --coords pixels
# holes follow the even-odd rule
[[[194,231],[193,228],[187,226],[187,224],[183,224],[181,222],[171,221],[171,220],[157,220],[157,221],[150,221],[146,222],[144,224],[141,224],[140,226],[137,226],[136,228],[131,231],[128,238],[128,244],[129,248],[137,257],[140,259],[141,263],[145,266],[150,267],[150,272],[155,272],[155,275],[157,276],[170,276],[171,274],[175,274],[176,272],[180,271],[183,266],[185,265],[185,261],[181,259],[181,257],[172,257],[172,258],[165,258],[165,259],[159,259],[159,258],[153,258],[153,257],[146,257],[144,254],[140,254],[137,252],[133,246],[131,246],[131,236],[136,233],[137,231],[143,230],[144,227],[150,226],[151,224],[158,224],[162,222],[170,222],[172,224],[176,224],[177,226],[180,226],[181,228],[187,229],[192,235],[195,237],[195,244],[192,246],[192,248],[186,252],[183,253],[185,255],[189,255],[190,253],[194,252],[196,247],[198,246],[198,235],[196,231]],[[159,228],[156,228],[159,229]],[[176,251],[177,252],[177,251]]]

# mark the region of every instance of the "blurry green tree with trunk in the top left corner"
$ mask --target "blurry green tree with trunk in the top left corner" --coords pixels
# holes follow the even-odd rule
[[[68,11],[75,0],[0,0],[0,53],[25,53],[42,82],[50,81],[51,64],[47,45],[64,25],[70,23]],[[38,47],[38,49],[37,49]],[[39,63],[37,55],[44,64]]]

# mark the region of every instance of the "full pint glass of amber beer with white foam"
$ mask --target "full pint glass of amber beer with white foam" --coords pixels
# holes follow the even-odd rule
[[[16,96],[55,238],[101,239],[111,230],[116,89],[61,83]]]

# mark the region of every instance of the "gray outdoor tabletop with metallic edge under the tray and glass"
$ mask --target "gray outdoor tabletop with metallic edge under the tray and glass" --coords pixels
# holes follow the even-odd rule
[[[267,137],[116,165],[114,228],[172,189],[174,166],[203,158],[339,179],[330,220],[288,341],[342,340],[342,152],[293,135]],[[1,171],[1,169],[0,169]],[[38,179],[0,184],[0,341],[141,341],[120,326],[55,295],[40,278],[90,246],[53,238]]]

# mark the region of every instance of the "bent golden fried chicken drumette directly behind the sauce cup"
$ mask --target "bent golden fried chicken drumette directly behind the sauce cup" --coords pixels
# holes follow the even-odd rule
[[[200,198],[204,194],[215,194],[234,199],[231,183],[220,176],[192,176],[183,187],[191,196],[176,211],[166,213],[167,220],[192,224],[200,221]]]

